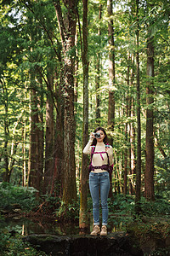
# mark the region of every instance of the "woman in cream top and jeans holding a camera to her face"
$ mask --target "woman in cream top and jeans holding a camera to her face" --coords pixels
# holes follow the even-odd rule
[[[93,201],[94,229],[91,236],[107,236],[108,206],[110,189],[109,165],[113,164],[113,148],[107,143],[107,135],[102,127],[90,134],[83,154],[91,154],[89,188]],[[99,189],[102,207],[102,228],[99,229]]]

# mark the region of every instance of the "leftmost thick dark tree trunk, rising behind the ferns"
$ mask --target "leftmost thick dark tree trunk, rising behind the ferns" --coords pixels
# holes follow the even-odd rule
[[[31,70],[31,88],[34,88],[36,83],[34,71]],[[39,86],[39,84],[36,84]],[[30,185],[41,190],[42,169],[43,169],[43,136],[42,136],[42,96],[38,96],[35,89],[30,91],[30,148],[29,148],[29,163],[27,186]]]

